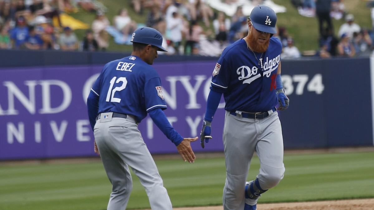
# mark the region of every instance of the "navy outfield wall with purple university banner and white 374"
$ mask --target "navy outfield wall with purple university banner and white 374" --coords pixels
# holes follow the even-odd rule
[[[0,51],[0,160],[94,155],[85,101],[102,63],[123,56]],[[165,114],[182,136],[199,135],[216,60],[156,59]],[[285,149],[373,145],[371,77],[370,58],[282,61],[290,99],[289,109],[279,112]],[[194,142],[194,151],[223,150],[223,121],[221,103],[213,140],[205,149]],[[176,152],[149,117],[139,128],[151,153]]]

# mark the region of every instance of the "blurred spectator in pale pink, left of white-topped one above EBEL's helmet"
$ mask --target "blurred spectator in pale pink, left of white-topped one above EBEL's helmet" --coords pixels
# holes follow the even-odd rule
[[[92,31],[93,31],[93,37],[99,44],[99,49],[105,50],[109,46],[109,35],[105,31],[105,28],[109,26],[110,23],[108,21],[108,18],[105,17],[104,12],[101,10],[98,10],[96,13],[96,18],[92,22]]]

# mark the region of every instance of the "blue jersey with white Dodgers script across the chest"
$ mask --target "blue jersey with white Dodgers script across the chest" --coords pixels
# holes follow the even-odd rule
[[[249,50],[243,39],[226,47],[211,83],[211,89],[223,92],[225,110],[265,112],[277,105],[276,74],[281,52],[282,44],[276,37],[270,38],[262,56]]]

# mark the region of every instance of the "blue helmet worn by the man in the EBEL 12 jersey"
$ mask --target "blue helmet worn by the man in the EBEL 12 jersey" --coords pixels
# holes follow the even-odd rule
[[[162,34],[154,28],[141,27],[132,34],[131,42],[150,44],[158,47],[158,51],[168,52],[162,47]]]

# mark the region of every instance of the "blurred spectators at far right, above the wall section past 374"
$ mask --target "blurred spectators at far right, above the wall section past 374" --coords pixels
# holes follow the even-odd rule
[[[317,56],[353,57],[369,55],[373,49],[374,31],[360,27],[343,0],[291,0],[301,15],[318,20],[319,50]],[[368,4],[373,7],[374,5]],[[335,35],[332,19],[345,21]],[[374,23],[374,21],[373,21]]]

